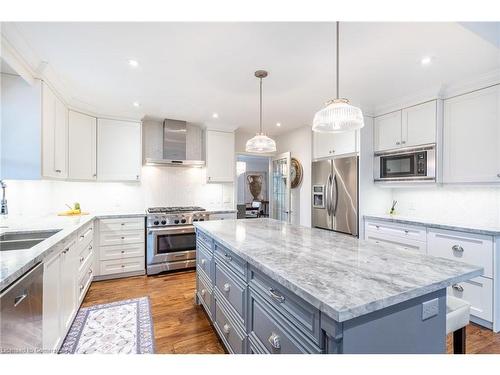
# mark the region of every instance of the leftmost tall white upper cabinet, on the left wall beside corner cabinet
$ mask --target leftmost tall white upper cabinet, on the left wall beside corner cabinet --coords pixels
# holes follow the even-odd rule
[[[42,85],[42,176],[68,177],[68,109]]]

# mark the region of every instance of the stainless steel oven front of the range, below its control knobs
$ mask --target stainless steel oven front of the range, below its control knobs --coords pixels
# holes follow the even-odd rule
[[[191,268],[196,265],[193,225],[147,229],[147,273]]]

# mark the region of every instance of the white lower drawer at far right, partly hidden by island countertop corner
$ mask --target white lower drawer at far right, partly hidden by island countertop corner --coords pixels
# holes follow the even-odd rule
[[[471,304],[471,315],[493,321],[493,282],[486,277],[474,279],[455,284],[448,288],[448,294],[462,298]]]

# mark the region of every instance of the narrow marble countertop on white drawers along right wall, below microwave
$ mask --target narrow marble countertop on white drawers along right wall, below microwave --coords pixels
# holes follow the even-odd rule
[[[500,236],[500,226],[480,225],[477,223],[470,224],[453,219],[447,221],[439,221],[439,220],[429,220],[425,218],[416,218],[416,217],[389,215],[389,214],[382,214],[382,215],[370,214],[370,215],[364,215],[364,218],[372,220],[383,220],[391,223],[399,223],[407,225],[424,225],[429,228],[456,230],[460,232],[484,234],[487,236]]]

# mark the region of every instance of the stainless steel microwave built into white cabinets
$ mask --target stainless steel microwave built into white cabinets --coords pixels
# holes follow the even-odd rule
[[[436,146],[376,152],[375,181],[436,181]]]

